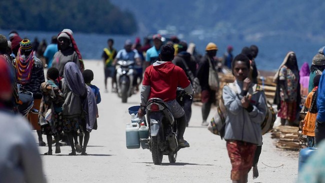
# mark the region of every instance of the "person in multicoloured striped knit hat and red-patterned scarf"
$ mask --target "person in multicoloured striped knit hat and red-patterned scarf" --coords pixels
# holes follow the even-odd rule
[[[20,47],[16,58],[13,60],[17,71],[17,83],[21,88],[32,93],[34,99],[33,108],[39,110],[42,93],[39,90],[40,85],[45,82],[44,70],[42,62],[35,57],[31,47],[31,42],[24,39],[20,42]],[[40,146],[45,146],[41,136],[41,129],[38,125],[38,115],[27,114],[28,121],[37,131],[38,143]]]

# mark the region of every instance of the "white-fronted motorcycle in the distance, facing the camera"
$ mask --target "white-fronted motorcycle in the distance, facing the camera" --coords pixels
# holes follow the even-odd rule
[[[132,95],[134,61],[119,60],[116,63],[117,95],[122,98],[122,103],[127,102],[127,97]]]

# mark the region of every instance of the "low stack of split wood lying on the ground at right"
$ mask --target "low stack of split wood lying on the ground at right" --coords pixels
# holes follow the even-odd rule
[[[278,126],[273,128],[271,138],[277,138],[276,147],[288,149],[288,150],[299,150],[299,135],[298,127],[296,126]]]

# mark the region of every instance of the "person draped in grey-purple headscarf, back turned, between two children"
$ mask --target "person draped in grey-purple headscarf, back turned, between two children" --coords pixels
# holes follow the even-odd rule
[[[61,91],[64,96],[62,105],[62,125],[63,131],[67,133],[68,141],[72,152],[69,155],[76,155],[75,148],[81,147],[73,139],[81,133],[82,101],[87,96],[82,74],[79,67],[74,62],[67,62],[64,66],[64,78],[61,79]]]

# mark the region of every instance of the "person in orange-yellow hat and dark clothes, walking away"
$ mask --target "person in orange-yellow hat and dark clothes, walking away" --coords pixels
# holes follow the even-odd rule
[[[216,63],[214,61],[218,47],[214,43],[208,43],[205,47],[206,54],[201,58],[197,70],[196,77],[199,79],[201,85],[201,102],[202,102],[202,125],[207,126],[207,116],[210,113],[211,104],[216,102],[216,91],[218,86],[211,88],[208,84],[209,67],[212,66],[213,70],[216,70]]]

